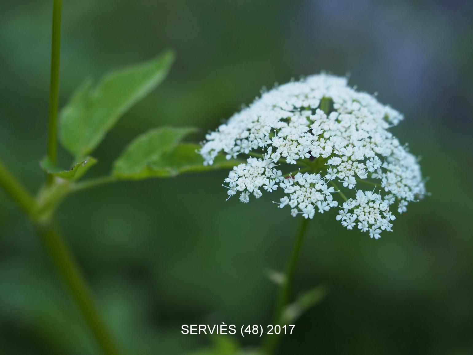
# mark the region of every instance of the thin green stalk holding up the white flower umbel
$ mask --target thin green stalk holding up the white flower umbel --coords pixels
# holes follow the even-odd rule
[[[286,272],[284,273],[284,279],[279,290],[278,301],[276,303],[276,311],[274,313],[272,325],[282,325],[281,321],[283,320],[282,318],[284,310],[286,309],[286,306],[289,303],[294,273],[296,271],[296,266],[299,259],[302,242],[304,241],[304,235],[307,230],[308,222],[308,219],[302,218],[302,222],[299,227],[296,240],[294,241],[294,245],[292,247],[292,251],[286,265]],[[276,349],[276,346],[278,345],[278,342],[279,336],[276,334],[266,337],[265,342],[263,344],[265,354],[273,354]]]

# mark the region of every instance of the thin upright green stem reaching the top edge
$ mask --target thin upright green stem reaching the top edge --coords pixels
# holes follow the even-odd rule
[[[53,1],[53,35],[51,46],[51,81],[49,88],[48,158],[57,161],[57,121],[59,106],[59,59],[61,52],[62,0]]]

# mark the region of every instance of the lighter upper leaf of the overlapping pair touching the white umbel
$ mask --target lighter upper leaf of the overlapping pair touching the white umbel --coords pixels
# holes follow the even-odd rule
[[[152,164],[159,162],[163,155],[172,151],[187,134],[195,131],[192,127],[161,127],[141,134],[115,160],[113,175],[132,179],[162,176],[160,172],[153,175]]]

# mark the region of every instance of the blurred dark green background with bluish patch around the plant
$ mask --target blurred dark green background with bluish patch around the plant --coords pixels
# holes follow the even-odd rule
[[[31,189],[44,173],[51,1],[0,0],[0,156]],[[165,82],[94,156],[107,173],[149,127],[193,138],[262,86],[321,70],[404,113],[394,132],[423,157],[431,196],[381,240],[316,215],[295,290],[330,293],[280,353],[473,354],[471,1],[64,1],[61,104],[87,76],[166,47]],[[67,165],[64,151],[60,160]],[[225,171],[120,183],[70,196],[58,220],[105,317],[131,354],[183,354],[211,339],[182,324],[268,324],[298,221],[266,196],[248,205]],[[256,337],[236,337],[245,346]],[[0,192],[0,354],[98,354],[33,228]]]

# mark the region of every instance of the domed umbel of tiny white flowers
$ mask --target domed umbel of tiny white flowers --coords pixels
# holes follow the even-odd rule
[[[247,203],[250,195],[261,197],[262,189],[280,188],[286,195],[277,204],[289,205],[293,216],[313,218],[339,207],[336,219],[344,227],[378,239],[381,231],[391,231],[393,204],[403,213],[408,202],[425,195],[418,160],[389,132],[402,119],[373,96],[348,87],[346,78],[313,75],[263,93],[208,133],[199,152],[206,165],[221,151],[227,159],[250,156],[225,179],[228,197],[240,193]],[[285,176],[276,168],[281,164],[302,169]],[[345,197],[338,183],[353,195]]]

